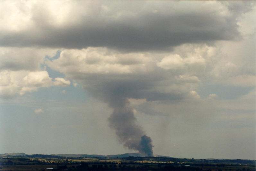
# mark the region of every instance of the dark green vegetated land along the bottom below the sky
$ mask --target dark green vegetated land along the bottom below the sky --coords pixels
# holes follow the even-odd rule
[[[255,160],[170,157],[88,158],[34,154],[0,157],[0,171],[254,171]]]

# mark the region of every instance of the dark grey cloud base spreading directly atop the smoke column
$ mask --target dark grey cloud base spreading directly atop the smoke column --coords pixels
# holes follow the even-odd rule
[[[167,79],[169,75],[161,72],[151,74],[137,75],[105,75],[91,74],[86,76],[86,80],[82,81],[84,89],[93,96],[109,101],[111,97],[127,97],[127,98],[146,98],[148,101],[154,100],[181,100],[184,94],[181,92],[161,92],[152,88],[161,86],[161,81]],[[95,79],[97,77],[97,79]],[[81,80],[81,77],[77,75]]]

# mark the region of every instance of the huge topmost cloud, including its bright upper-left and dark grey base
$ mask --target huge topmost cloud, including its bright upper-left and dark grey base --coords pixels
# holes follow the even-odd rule
[[[147,51],[241,37],[234,11],[217,1],[1,1],[0,6],[1,46]]]

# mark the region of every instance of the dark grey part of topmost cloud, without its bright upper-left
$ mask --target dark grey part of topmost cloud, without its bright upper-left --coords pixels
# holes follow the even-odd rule
[[[131,6],[133,2],[125,4],[127,2],[117,3],[123,8],[115,9],[113,5],[97,2],[90,13],[82,14],[83,9],[77,9],[76,16],[70,13],[70,18],[63,21],[66,24],[56,26],[48,20],[57,16],[43,15],[49,9],[31,10],[32,26],[15,32],[4,31],[0,45],[68,49],[104,46],[122,51],[146,51],[239,37],[235,18],[219,3],[195,3],[191,8],[177,2],[140,2],[136,7]],[[150,8],[145,10],[149,4]],[[206,10],[203,5],[212,8]],[[219,10],[219,6],[224,9]],[[75,8],[77,6],[74,11]],[[72,21],[72,17],[79,19]]]

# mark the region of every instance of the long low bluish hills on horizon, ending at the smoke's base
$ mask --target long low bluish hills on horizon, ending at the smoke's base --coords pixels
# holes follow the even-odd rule
[[[63,157],[99,157],[99,158],[124,158],[124,157],[140,157],[139,153],[125,153],[125,154],[113,154],[113,155],[97,155],[97,154],[51,154],[56,156],[63,156]]]

